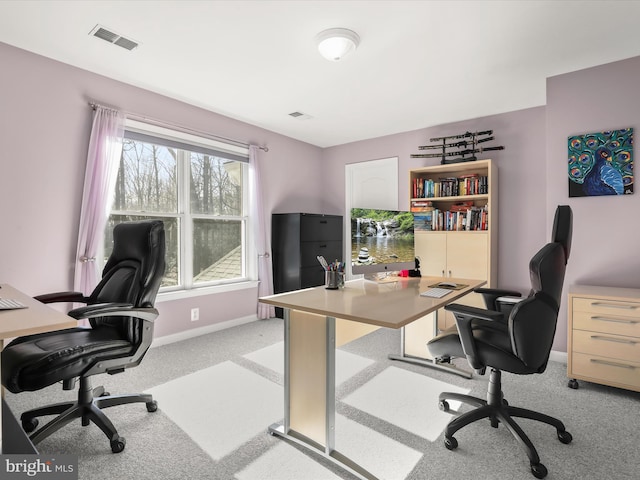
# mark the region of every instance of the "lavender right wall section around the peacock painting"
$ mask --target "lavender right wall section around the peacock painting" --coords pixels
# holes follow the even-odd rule
[[[567,285],[640,287],[640,189],[624,197],[569,198],[567,137],[633,127],[640,134],[640,57],[547,80],[547,218],[557,204],[573,209],[573,246]],[[638,150],[635,163],[638,164]],[[549,221],[547,222],[549,224]],[[566,298],[566,297],[565,297]],[[565,350],[567,306],[554,349]]]

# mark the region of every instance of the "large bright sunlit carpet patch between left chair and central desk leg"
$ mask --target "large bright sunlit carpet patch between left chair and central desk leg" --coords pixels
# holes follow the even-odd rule
[[[232,362],[223,362],[148,390],[158,406],[214,460],[283,418],[277,385]]]

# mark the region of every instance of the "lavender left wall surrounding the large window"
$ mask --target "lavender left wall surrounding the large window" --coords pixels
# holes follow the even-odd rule
[[[321,212],[318,147],[2,43],[0,65],[0,282],[32,295],[73,286],[89,100],[268,145],[261,157],[268,214]],[[255,288],[161,302],[156,335],[255,315],[256,304]],[[195,323],[192,307],[200,308]]]

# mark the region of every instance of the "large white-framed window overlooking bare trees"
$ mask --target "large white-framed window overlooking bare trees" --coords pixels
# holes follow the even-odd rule
[[[105,232],[145,218],[164,221],[163,291],[246,281],[248,149],[127,121]]]

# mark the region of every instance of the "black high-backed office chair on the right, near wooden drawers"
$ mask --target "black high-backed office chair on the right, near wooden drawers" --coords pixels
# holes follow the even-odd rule
[[[444,411],[449,410],[447,399],[477,407],[447,425],[444,444],[449,450],[458,446],[453,436],[455,432],[477,420],[489,418],[492,427],[497,428],[498,423],[502,422],[509,429],[525,449],[533,475],[544,478],[547,475],[546,467],[540,463],[535,447],[512,417],[547,423],[556,428],[562,443],[571,442],[572,436],[560,420],[510,406],[503,398],[501,384],[503,370],[529,375],[542,373],[547,367],[571,248],[571,234],[571,208],[559,206],[554,220],[553,236],[556,241],[542,247],[531,259],[531,292],[527,298],[512,305],[509,313],[501,312],[497,307],[487,310],[459,304],[445,307],[455,315],[459,333],[446,331],[436,336],[428,343],[429,351],[434,356],[458,356],[462,353],[481,375],[487,367],[491,369],[487,400],[457,393],[440,394],[440,408]],[[456,345],[462,352],[454,351]]]

